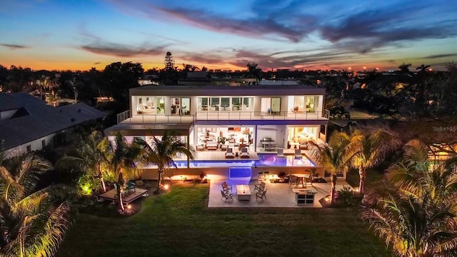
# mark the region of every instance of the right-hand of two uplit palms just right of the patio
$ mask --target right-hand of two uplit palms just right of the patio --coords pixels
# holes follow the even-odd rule
[[[398,148],[400,143],[398,137],[384,129],[366,133],[356,130],[353,133],[349,155],[353,156],[352,162],[358,168],[360,176],[358,191],[360,193],[365,193],[366,169],[378,166],[386,154]]]

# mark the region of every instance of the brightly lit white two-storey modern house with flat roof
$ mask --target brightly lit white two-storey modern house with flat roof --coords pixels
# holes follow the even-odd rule
[[[326,141],[326,89],[298,85],[141,86],[130,89],[130,110],[106,134],[149,141],[173,130],[197,150],[244,144],[253,151],[306,149]],[[216,144],[216,145],[215,145]]]

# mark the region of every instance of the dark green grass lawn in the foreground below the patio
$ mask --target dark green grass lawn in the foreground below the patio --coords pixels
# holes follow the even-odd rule
[[[345,208],[206,208],[208,184],[149,196],[129,218],[81,214],[57,256],[389,256]]]

